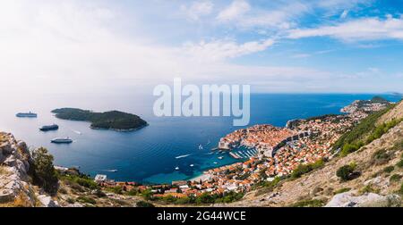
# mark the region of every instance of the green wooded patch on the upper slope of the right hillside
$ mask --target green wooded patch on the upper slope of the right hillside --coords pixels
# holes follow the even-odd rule
[[[403,119],[391,120],[376,126],[376,122],[379,118],[384,113],[389,112],[391,108],[393,108],[393,105],[390,105],[382,111],[373,112],[368,115],[363,121],[358,123],[356,127],[342,135],[333,146],[333,150],[340,149],[339,154],[346,156],[347,154],[356,152],[362,146],[370,144],[373,140],[382,137],[389,129],[394,128],[399,122],[403,121]]]

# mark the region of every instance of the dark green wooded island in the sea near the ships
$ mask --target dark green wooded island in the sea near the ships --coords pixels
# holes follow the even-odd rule
[[[92,129],[133,130],[147,126],[147,122],[139,116],[126,112],[92,112],[75,108],[56,109],[52,112],[62,120],[90,121]]]

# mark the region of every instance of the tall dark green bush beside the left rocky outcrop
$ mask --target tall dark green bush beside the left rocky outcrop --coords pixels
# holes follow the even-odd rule
[[[47,153],[47,149],[39,147],[32,153],[31,173],[34,184],[42,187],[47,193],[55,195],[58,188],[58,178],[53,165],[53,155]]]

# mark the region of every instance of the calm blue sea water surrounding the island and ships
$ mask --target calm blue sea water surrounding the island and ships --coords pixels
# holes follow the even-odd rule
[[[251,123],[285,126],[288,120],[327,113],[356,99],[374,95],[360,94],[256,94],[251,96]],[[385,96],[399,101],[399,96]],[[152,113],[154,99],[150,96],[39,96],[2,99],[0,130],[12,132],[29,146],[45,146],[55,156],[57,165],[80,167],[95,176],[107,174],[109,179],[144,183],[165,183],[190,179],[202,171],[236,162],[228,154],[210,154],[219,138],[239,127],[232,118],[158,118]],[[138,114],[150,126],[134,132],[90,129],[90,123],[56,119],[51,110],[78,107],[94,111],[120,110]],[[38,112],[37,119],[19,119],[16,112]],[[60,129],[43,133],[39,127],[57,123]],[[72,145],[54,145],[54,137],[72,137]],[[199,146],[202,146],[202,149]],[[224,159],[219,160],[219,156]],[[176,158],[178,156],[183,156]],[[217,162],[215,164],[214,162]],[[190,165],[194,166],[191,167]],[[176,171],[175,168],[180,170]],[[116,172],[114,172],[116,170]]]

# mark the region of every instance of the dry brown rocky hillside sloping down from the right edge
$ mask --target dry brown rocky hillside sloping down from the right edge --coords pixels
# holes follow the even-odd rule
[[[401,118],[403,103],[385,113],[378,123]],[[343,171],[348,171],[346,176]],[[401,206],[402,181],[400,122],[354,153],[334,157],[299,179],[283,179],[273,187],[258,188],[229,206]]]

